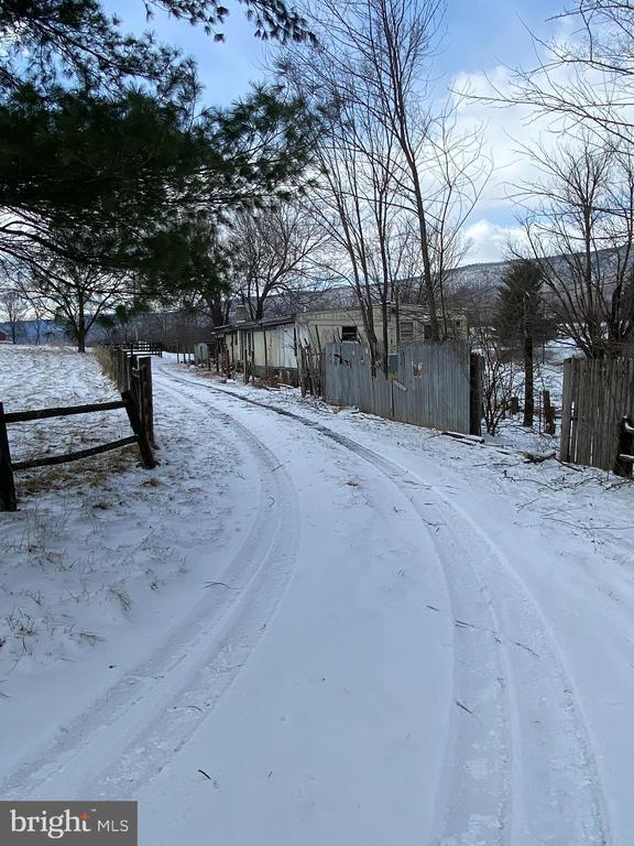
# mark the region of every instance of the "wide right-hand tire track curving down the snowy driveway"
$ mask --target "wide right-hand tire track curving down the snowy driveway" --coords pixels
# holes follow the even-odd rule
[[[456,711],[430,846],[608,846],[598,766],[555,638],[480,525],[437,487],[321,423],[201,380],[170,378],[317,431],[390,479],[427,530],[436,525],[458,631]],[[417,501],[416,487],[436,503]]]

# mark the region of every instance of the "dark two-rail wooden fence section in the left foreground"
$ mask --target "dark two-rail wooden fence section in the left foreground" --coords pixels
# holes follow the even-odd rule
[[[113,411],[116,409],[125,409],[128,412],[128,419],[132,432],[134,433],[130,437],[122,437],[118,441],[110,441],[106,444],[92,446],[89,449],[79,449],[63,455],[32,458],[25,462],[11,460],[7,424],[46,420],[47,417],[66,417],[72,414],[91,414],[95,412]],[[139,445],[143,467],[151,469],[156,466],[156,462],[152,454],[152,447],[150,446],[145,430],[141,423],[134,397],[129,390],[123,391],[121,393],[121,400],[114,402],[100,402],[90,405],[70,405],[54,409],[35,409],[33,411],[14,411],[10,413],[4,412],[4,406],[0,402],[0,510],[15,511],[18,508],[13,476],[17,470],[28,470],[33,467],[50,467],[56,464],[77,462],[80,458],[88,458],[91,455],[99,455],[100,453],[107,453],[111,449],[119,449],[122,446],[129,446],[130,444]]]

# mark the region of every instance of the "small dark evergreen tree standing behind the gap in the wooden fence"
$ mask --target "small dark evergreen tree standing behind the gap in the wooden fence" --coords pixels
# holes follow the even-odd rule
[[[494,315],[501,343],[521,351],[524,359],[524,426],[533,425],[535,413],[535,346],[555,337],[542,285],[542,271],[535,262],[513,262],[502,278]]]

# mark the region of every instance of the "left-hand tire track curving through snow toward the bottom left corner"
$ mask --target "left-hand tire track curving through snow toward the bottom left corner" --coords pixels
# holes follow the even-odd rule
[[[193,411],[204,408],[185,392],[156,387]],[[151,655],[8,772],[3,798],[58,798],[61,784],[67,799],[133,798],[210,713],[264,634],[293,575],[297,498],[287,475],[272,473],[273,453],[230,415],[217,416],[240,431],[262,479],[255,520],[221,576],[230,588],[207,589]]]

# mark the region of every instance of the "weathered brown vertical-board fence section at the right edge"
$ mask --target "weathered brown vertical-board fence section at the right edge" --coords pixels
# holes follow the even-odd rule
[[[562,462],[623,473],[624,417],[634,417],[634,358],[564,362]]]

